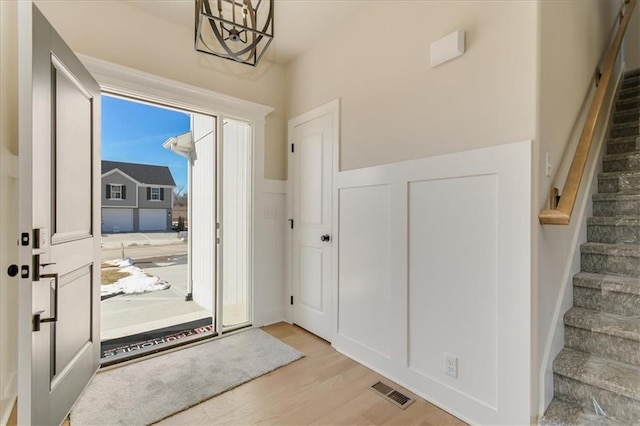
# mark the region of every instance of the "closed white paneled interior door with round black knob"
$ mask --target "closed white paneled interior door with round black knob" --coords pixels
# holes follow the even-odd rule
[[[333,108],[333,109],[332,109]],[[293,320],[331,341],[333,171],[337,102],[289,122]]]

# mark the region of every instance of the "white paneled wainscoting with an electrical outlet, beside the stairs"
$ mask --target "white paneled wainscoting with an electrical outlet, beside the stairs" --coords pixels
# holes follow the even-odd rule
[[[471,423],[528,424],[531,143],[341,172],[337,197],[336,349]]]

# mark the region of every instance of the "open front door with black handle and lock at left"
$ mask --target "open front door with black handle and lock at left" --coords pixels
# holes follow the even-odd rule
[[[20,3],[18,423],[60,424],[100,360],[100,88]]]

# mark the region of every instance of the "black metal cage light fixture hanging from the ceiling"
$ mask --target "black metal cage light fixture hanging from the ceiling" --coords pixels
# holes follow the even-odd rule
[[[273,2],[196,0],[196,51],[256,66],[273,40]]]

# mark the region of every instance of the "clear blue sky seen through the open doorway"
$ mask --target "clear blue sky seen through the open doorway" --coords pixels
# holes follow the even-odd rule
[[[102,159],[168,166],[182,193],[187,192],[187,159],[162,144],[189,130],[189,114],[102,96]]]

